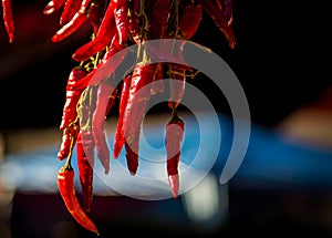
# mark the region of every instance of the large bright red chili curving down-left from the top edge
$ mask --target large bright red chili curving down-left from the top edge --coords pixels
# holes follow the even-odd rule
[[[112,41],[116,32],[114,13],[113,13],[113,1],[108,3],[104,18],[101,22],[96,37],[79,48],[72,55],[75,61],[84,61],[104,50]]]

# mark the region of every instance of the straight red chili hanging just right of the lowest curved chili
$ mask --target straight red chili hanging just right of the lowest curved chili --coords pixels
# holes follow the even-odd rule
[[[86,131],[80,131],[76,142],[77,165],[80,183],[82,187],[83,205],[86,211],[91,210],[93,199],[93,167],[94,167],[94,142]],[[84,143],[83,143],[84,138]]]

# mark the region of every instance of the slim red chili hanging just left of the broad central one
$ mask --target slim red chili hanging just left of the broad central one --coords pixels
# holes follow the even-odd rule
[[[121,154],[122,147],[125,143],[125,136],[123,131],[123,117],[124,112],[128,102],[129,90],[131,90],[131,80],[132,74],[127,75],[123,80],[121,97],[120,97],[120,106],[118,106],[118,120],[116,124],[116,131],[114,135],[114,146],[113,146],[113,157],[117,158]]]

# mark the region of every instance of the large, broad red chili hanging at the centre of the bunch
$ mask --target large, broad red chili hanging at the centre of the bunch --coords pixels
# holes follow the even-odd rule
[[[131,81],[128,102],[123,118],[123,130],[126,139],[126,159],[132,175],[136,174],[138,166],[141,125],[151,96],[156,68],[157,64],[136,64]]]

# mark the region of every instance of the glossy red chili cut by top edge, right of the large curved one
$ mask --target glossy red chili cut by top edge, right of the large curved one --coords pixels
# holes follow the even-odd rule
[[[125,44],[128,38],[128,1],[112,0],[118,43]]]

